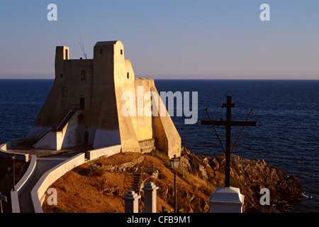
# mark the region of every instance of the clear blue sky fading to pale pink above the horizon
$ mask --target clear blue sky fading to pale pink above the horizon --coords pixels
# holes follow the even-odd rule
[[[136,77],[318,79],[318,12],[318,0],[0,1],[0,78],[53,79],[55,46],[83,57],[81,35],[89,58],[121,40]]]

